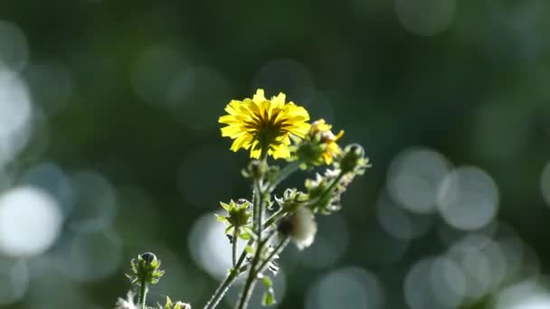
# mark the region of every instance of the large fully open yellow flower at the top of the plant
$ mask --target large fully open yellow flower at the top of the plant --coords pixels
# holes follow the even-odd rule
[[[252,158],[262,152],[274,158],[289,157],[290,136],[303,138],[308,134],[309,115],[305,108],[293,102],[285,103],[285,94],[267,99],[263,89],[258,89],[253,98],[232,100],[225,107],[229,115],[220,117],[225,124],[222,136],[234,139],[232,151],[241,148],[251,150]]]

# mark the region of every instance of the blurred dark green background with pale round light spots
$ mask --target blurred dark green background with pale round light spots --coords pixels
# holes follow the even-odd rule
[[[149,299],[201,308],[250,195],[217,117],[263,88],[373,163],[280,308],[550,308],[549,32],[546,0],[1,2],[0,307],[109,308],[153,251]]]

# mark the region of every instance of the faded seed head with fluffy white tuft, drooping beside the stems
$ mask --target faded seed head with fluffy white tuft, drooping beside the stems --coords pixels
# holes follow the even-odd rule
[[[317,223],[308,208],[301,207],[288,217],[280,220],[279,231],[288,235],[300,250],[308,248],[315,239]]]

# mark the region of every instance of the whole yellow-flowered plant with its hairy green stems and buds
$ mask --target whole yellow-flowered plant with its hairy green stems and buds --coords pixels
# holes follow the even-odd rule
[[[252,98],[230,101],[225,111],[227,115],[219,118],[224,125],[222,136],[232,139],[232,151],[248,150],[252,158],[242,171],[251,181],[252,199],[220,203],[225,213],[216,216],[226,226],[232,267],[204,309],[215,308],[232,283],[245,274],[235,308],[248,306],[258,282],[265,287],[261,304],[275,304],[270,276],[277,275],[276,261],[282,250],[290,242],[300,250],[311,246],[318,230],[316,215],[340,210],[340,196],[370,164],[360,145],[338,144],[344,136],[343,130],[333,133],[324,119],[309,124],[308,111],[287,102],[283,93],[268,99],[263,89],[258,89]],[[282,167],[270,164],[269,156],[286,159],[287,164]],[[291,174],[314,169],[324,171],[306,179],[302,191],[287,188],[280,195],[274,193]],[[245,240],[246,245],[241,246],[237,239]],[[116,308],[145,309],[147,285],[156,284],[164,270],[160,270],[160,261],[149,252],[133,259],[131,265],[132,274],[128,277],[139,290],[138,302],[134,303],[134,294],[130,293],[127,299],[119,299]],[[268,269],[270,276],[265,273]],[[166,297],[166,304],[158,304],[158,308],[190,309],[190,305],[173,303]]]

